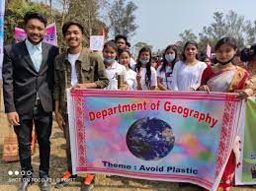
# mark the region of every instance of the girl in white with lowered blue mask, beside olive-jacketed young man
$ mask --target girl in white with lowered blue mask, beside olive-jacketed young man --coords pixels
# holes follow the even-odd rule
[[[116,61],[118,52],[118,47],[115,42],[108,41],[104,44],[103,47],[103,58],[104,64],[106,66],[106,73],[108,79],[110,80],[109,86],[104,90],[118,90],[118,75],[124,76],[125,87],[124,89],[128,89],[127,86],[127,69],[125,66],[119,64]]]

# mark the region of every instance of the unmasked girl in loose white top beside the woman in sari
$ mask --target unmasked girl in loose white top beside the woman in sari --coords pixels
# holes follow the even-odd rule
[[[183,60],[173,69],[174,91],[196,91],[201,86],[201,78],[207,68],[205,62],[198,60],[198,43],[187,41],[183,49]]]

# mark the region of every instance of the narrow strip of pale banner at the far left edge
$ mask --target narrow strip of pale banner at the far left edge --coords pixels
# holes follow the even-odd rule
[[[4,57],[4,12],[5,12],[5,1],[0,1],[0,79],[2,79],[2,64]]]

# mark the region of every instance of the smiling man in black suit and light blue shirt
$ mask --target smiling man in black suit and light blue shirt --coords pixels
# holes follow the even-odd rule
[[[24,174],[18,190],[26,190],[33,180],[33,123],[40,146],[40,178],[43,179],[40,186],[41,190],[49,190],[53,60],[58,49],[43,43],[47,23],[43,15],[27,13],[24,22],[28,38],[4,48],[2,77],[5,112],[18,137],[19,157]]]

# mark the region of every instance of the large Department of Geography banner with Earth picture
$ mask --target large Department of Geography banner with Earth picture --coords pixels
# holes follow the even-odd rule
[[[67,98],[74,173],[216,189],[237,133],[236,95],[73,90]]]

